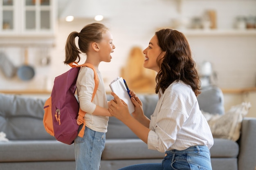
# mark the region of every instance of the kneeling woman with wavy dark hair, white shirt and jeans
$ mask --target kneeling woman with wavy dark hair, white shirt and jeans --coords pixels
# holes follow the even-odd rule
[[[109,111],[148,144],[148,149],[165,152],[165,157],[162,163],[121,170],[211,170],[213,137],[196,98],[200,80],[188,41],[179,31],[162,29],[143,53],[144,67],[157,72],[155,92],[159,100],[151,119],[144,115],[142,103],[132,91],[132,115],[115,93]]]

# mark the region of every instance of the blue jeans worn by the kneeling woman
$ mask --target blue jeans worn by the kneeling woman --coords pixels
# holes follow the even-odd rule
[[[119,170],[212,170],[207,146],[191,146],[185,150],[165,152],[162,163],[144,163]]]

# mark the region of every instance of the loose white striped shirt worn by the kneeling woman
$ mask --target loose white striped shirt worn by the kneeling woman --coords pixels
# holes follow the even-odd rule
[[[211,130],[191,86],[174,82],[159,97],[151,115],[148,149],[165,152],[196,145],[209,149],[213,146]]]

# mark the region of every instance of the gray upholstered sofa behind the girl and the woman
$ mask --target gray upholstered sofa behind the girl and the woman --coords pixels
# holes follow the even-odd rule
[[[144,113],[150,117],[157,95],[139,94]],[[112,96],[108,95],[108,99]],[[0,141],[1,170],[75,170],[74,145],[58,142],[45,132],[45,99],[0,94],[0,132],[9,141]],[[202,90],[200,109],[224,113],[223,94],[217,87]],[[256,166],[256,119],[244,118],[238,141],[214,138],[211,148],[213,170],[254,170]],[[117,170],[136,163],[161,162],[164,153],[148,150],[129,128],[110,117],[101,170]]]

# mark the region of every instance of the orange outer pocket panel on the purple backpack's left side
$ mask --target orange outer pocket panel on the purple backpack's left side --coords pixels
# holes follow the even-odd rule
[[[44,106],[45,114],[43,117],[43,124],[46,132],[54,136],[53,124],[52,124],[52,97],[49,97]]]

